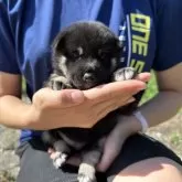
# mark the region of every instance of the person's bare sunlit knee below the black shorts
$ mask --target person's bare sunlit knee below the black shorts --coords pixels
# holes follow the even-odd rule
[[[167,158],[133,163],[116,175],[114,182],[182,182],[182,167]]]

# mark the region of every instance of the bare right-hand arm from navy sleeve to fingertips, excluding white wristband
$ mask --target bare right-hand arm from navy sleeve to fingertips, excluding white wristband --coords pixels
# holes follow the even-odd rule
[[[167,121],[182,108],[182,64],[156,74],[159,94],[138,108],[149,127]],[[141,131],[141,124],[135,116],[121,116],[120,122],[106,140],[105,152],[98,164],[98,170],[108,169],[126,139],[138,131]]]

